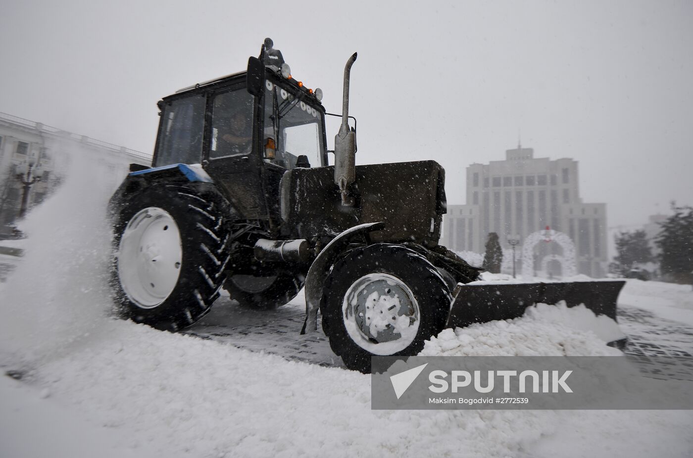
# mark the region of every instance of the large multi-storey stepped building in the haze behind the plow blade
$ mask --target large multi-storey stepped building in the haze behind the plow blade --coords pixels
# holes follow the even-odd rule
[[[532,148],[505,152],[505,161],[467,167],[466,204],[448,205],[442,245],[458,252],[484,252],[490,232],[510,249],[509,236],[523,240],[547,226],[566,234],[575,245],[577,272],[593,277],[606,274],[606,204],[582,202],[578,166],[573,159],[535,158]],[[535,270],[545,256],[559,256],[556,243],[536,246]],[[549,262],[550,276],[561,276],[560,263]]]

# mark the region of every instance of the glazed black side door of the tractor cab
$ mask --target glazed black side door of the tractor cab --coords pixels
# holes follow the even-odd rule
[[[233,85],[211,92],[208,107],[209,175],[226,188],[244,219],[265,217],[255,97],[244,84]]]

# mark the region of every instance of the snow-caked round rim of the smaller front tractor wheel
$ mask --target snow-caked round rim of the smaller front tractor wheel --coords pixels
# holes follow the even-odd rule
[[[374,355],[392,355],[414,342],[421,313],[412,290],[395,276],[368,274],[355,281],[342,302],[351,340]]]

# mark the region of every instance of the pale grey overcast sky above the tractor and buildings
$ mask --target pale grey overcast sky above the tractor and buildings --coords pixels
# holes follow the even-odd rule
[[[357,161],[465,168],[579,161],[584,202],[635,229],[693,204],[693,1],[15,1],[0,21],[0,111],[151,152],[159,98],[245,69],[274,39],[340,112]],[[336,126],[328,127],[328,143]]]

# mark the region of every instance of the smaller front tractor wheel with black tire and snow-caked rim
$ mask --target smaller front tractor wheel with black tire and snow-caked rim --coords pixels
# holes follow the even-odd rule
[[[378,342],[374,339],[370,333],[370,327],[368,335],[362,330],[360,331],[361,334],[358,335],[358,328],[366,326],[368,322],[365,319],[370,319],[363,317],[361,312],[358,312],[359,310],[365,311],[367,308],[365,304],[362,306],[360,301],[365,301],[369,291],[376,291],[376,285],[385,284],[378,283],[378,281],[383,281],[377,280],[380,277],[385,279],[388,285],[394,284],[396,288],[393,288],[392,291],[386,288],[385,294],[380,295],[378,301],[395,299],[397,303],[404,305],[408,299],[404,301],[397,299],[399,296],[397,292],[400,294],[404,292],[405,297],[411,294],[415,300],[415,303],[411,301],[412,307],[414,304],[418,306],[418,318],[409,312],[399,313],[398,310],[401,306],[397,306],[396,309],[390,307],[380,310],[380,313],[394,314],[391,318],[395,322],[402,319],[403,316],[412,315],[410,320],[413,318],[414,321],[410,322],[409,326],[412,326],[416,321],[418,321],[419,326],[413,337],[411,337],[412,332],[406,338],[404,337],[405,333],[402,332],[386,331],[385,328],[378,331],[377,337],[380,338],[382,338],[381,334],[387,337],[387,333],[395,340],[397,340],[396,334],[402,336],[400,337],[401,341],[394,342],[391,347],[385,349],[382,346],[384,342]],[[391,283],[392,279],[394,279],[394,283]],[[368,290],[367,288],[371,288],[371,285],[376,289]],[[348,294],[351,294],[349,298],[347,298]],[[353,310],[347,309],[348,311],[345,312],[343,306],[348,308],[348,303],[353,303],[351,299],[356,297],[360,298],[357,301],[359,305],[354,306]],[[367,298],[369,300],[373,298],[376,301],[372,292]],[[371,352],[372,348],[369,350],[365,347],[373,344],[380,346],[379,355],[416,355],[423,349],[425,340],[443,330],[450,310],[450,300],[450,290],[446,282],[441,278],[437,269],[421,254],[401,245],[385,243],[369,245],[353,249],[334,265],[329,274],[323,287],[320,302],[323,330],[329,338],[332,350],[342,357],[344,364],[349,369],[368,373],[371,369],[371,356],[374,353]],[[386,303],[386,306],[389,303]],[[412,307],[409,307],[408,310],[412,310]],[[387,312],[387,310],[394,310],[394,312]],[[366,315],[369,313],[374,312],[367,312]],[[347,317],[348,315],[353,316],[354,320],[353,324],[350,325],[351,335],[345,325],[345,322],[351,322],[351,319]],[[356,315],[359,315],[360,318],[357,318]],[[380,319],[382,320],[382,317]],[[385,315],[385,319],[389,320],[390,317]],[[361,324],[358,323],[359,321]],[[375,322],[370,323],[373,325]],[[385,326],[389,330],[389,322],[387,323]],[[392,328],[394,330],[396,326],[392,326]],[[353,337],[354,333],[357,333],[356,337],[358,338],[356,340]],[[398,348],[397,346],[405,347]]]

